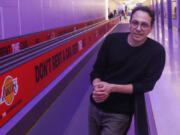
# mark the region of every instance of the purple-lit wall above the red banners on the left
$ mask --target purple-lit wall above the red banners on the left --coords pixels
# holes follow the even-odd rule
[[[0,40],[105,17],[105,0],[0,0]]]

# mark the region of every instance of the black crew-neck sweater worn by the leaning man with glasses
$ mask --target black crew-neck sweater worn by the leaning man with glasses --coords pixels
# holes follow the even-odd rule
[[[148,38],[144,44],[132,47],[129,33],[114,33],[106,37],[91,72],[91,81],[100,78],[113,84],[132,84],[133,94],[111,93],[103,103],[91,102],[104,112],[132,114],[134,96],[153,89],[165,64],[165,50]]]

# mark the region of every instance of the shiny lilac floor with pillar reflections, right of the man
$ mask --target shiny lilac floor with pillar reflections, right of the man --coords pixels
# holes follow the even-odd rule
[[[162,31],[161,25],[159,29]],[[166,65],[161,79],[150,93],[158,135],[180,134],[180,46],[177,30],[169,32],[166,26],[164,35],[159,33],[159,41],[166,50]]]

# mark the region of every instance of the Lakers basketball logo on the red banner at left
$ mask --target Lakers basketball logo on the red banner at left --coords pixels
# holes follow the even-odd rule
[[[2,87],[0,103],[2,104],[5,102],[6,105],[11,105],[17,92],[17,78],[13,79],[11,76],[7,76]]]

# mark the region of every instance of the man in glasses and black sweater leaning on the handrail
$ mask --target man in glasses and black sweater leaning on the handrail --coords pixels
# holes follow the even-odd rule
[[[165,50],[147,35],[154,12],[136,7],[129,33],[105,39],[91,72],[93,92],[88,114],[89,135],[126,135],[134,113],[134,97],[154,88],[165,64]]]

